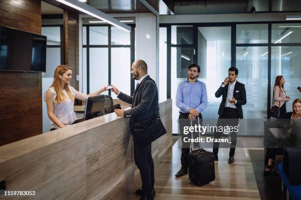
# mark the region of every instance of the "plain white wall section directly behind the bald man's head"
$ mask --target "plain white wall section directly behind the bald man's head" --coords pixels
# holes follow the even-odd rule
[[[148,74],[153,80],[156,77],[156,16],[152,13],[136,14],[136,60],[144,60],[148,65]]]

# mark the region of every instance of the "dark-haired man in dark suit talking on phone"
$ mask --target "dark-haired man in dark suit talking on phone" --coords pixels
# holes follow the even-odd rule
[[[236,67],[230,67],[228,70],[228,77],[215,92],[215,97],[222,96],[222,101],[218,109],[218,121],[219,126],[237,126],[239,118],[243,118],[241,105],[246,104],[246,93],[244,84],[237,81],[238,69]],[[228,120],[227,120],[228,119]],[[214,132],[214,139],[219,139],[222,132]],[[236,147],[237,132],[231,132],[231,148],[229,153],[228,163],[234,162],[234,153]],[[213,156],[214,160],[218,160],[218,142],[213,143]]]

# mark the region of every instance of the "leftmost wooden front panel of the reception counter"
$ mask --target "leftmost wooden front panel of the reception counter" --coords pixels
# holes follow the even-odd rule
[[[5,179],[6,189],[35,191],[30,200],[85,199],[85,140],[79,134],[1,163],[0,179]]]

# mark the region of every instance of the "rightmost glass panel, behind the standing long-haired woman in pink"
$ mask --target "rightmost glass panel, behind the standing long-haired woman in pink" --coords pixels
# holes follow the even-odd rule
[[[301,98],[301,23],[271,24],[271,92],[277,75],[286,79],[284,90],[290,101],[287,112],[292,111],[293,101]],[[271,95],[272,102],[272,95]]]

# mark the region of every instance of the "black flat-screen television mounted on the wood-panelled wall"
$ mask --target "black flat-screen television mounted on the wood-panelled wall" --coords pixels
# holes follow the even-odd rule
[[[0,71],[46,72],[47,37],[0,26]]]

